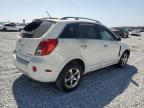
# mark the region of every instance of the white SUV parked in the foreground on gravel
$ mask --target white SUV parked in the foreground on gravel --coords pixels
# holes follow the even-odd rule
[[[72,91],[88,72],[126,65],[130,49],[120,40],[96,20],[36,19],[18,35],[14,62],[26,76]]]

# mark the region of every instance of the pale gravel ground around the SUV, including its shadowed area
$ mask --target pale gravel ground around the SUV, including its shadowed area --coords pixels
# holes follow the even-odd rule
[[[144,33],[122,40],[131,46],[125,68],[87,74],[71,93],[29,80],[15,68],[16,34],[0,32],[0,108],[144,108]]]

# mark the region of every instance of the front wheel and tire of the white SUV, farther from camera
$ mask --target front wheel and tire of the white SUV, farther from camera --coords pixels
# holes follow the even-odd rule
[[[128,61],[128,57],[129,57],[128,52],[124,52],[124,53],[122,54],[122,56],[121,56],[118,64],[117,64],[117,66],[120,67],[120,68],[125,67],[126,64],[127,64],[127,61]]]

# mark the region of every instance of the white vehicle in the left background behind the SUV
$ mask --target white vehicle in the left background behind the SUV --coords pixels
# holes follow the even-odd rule
[[[15,23],[7,23],[2,26],[2,31],[20,31],[22,28],[18,27]]]

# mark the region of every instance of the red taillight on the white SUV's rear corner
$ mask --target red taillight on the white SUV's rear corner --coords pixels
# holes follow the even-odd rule
[[[37,56],[44,56],[50,54],[57,46],[58,40],[57,39],[47,39],[42,40],[35,52]]]

